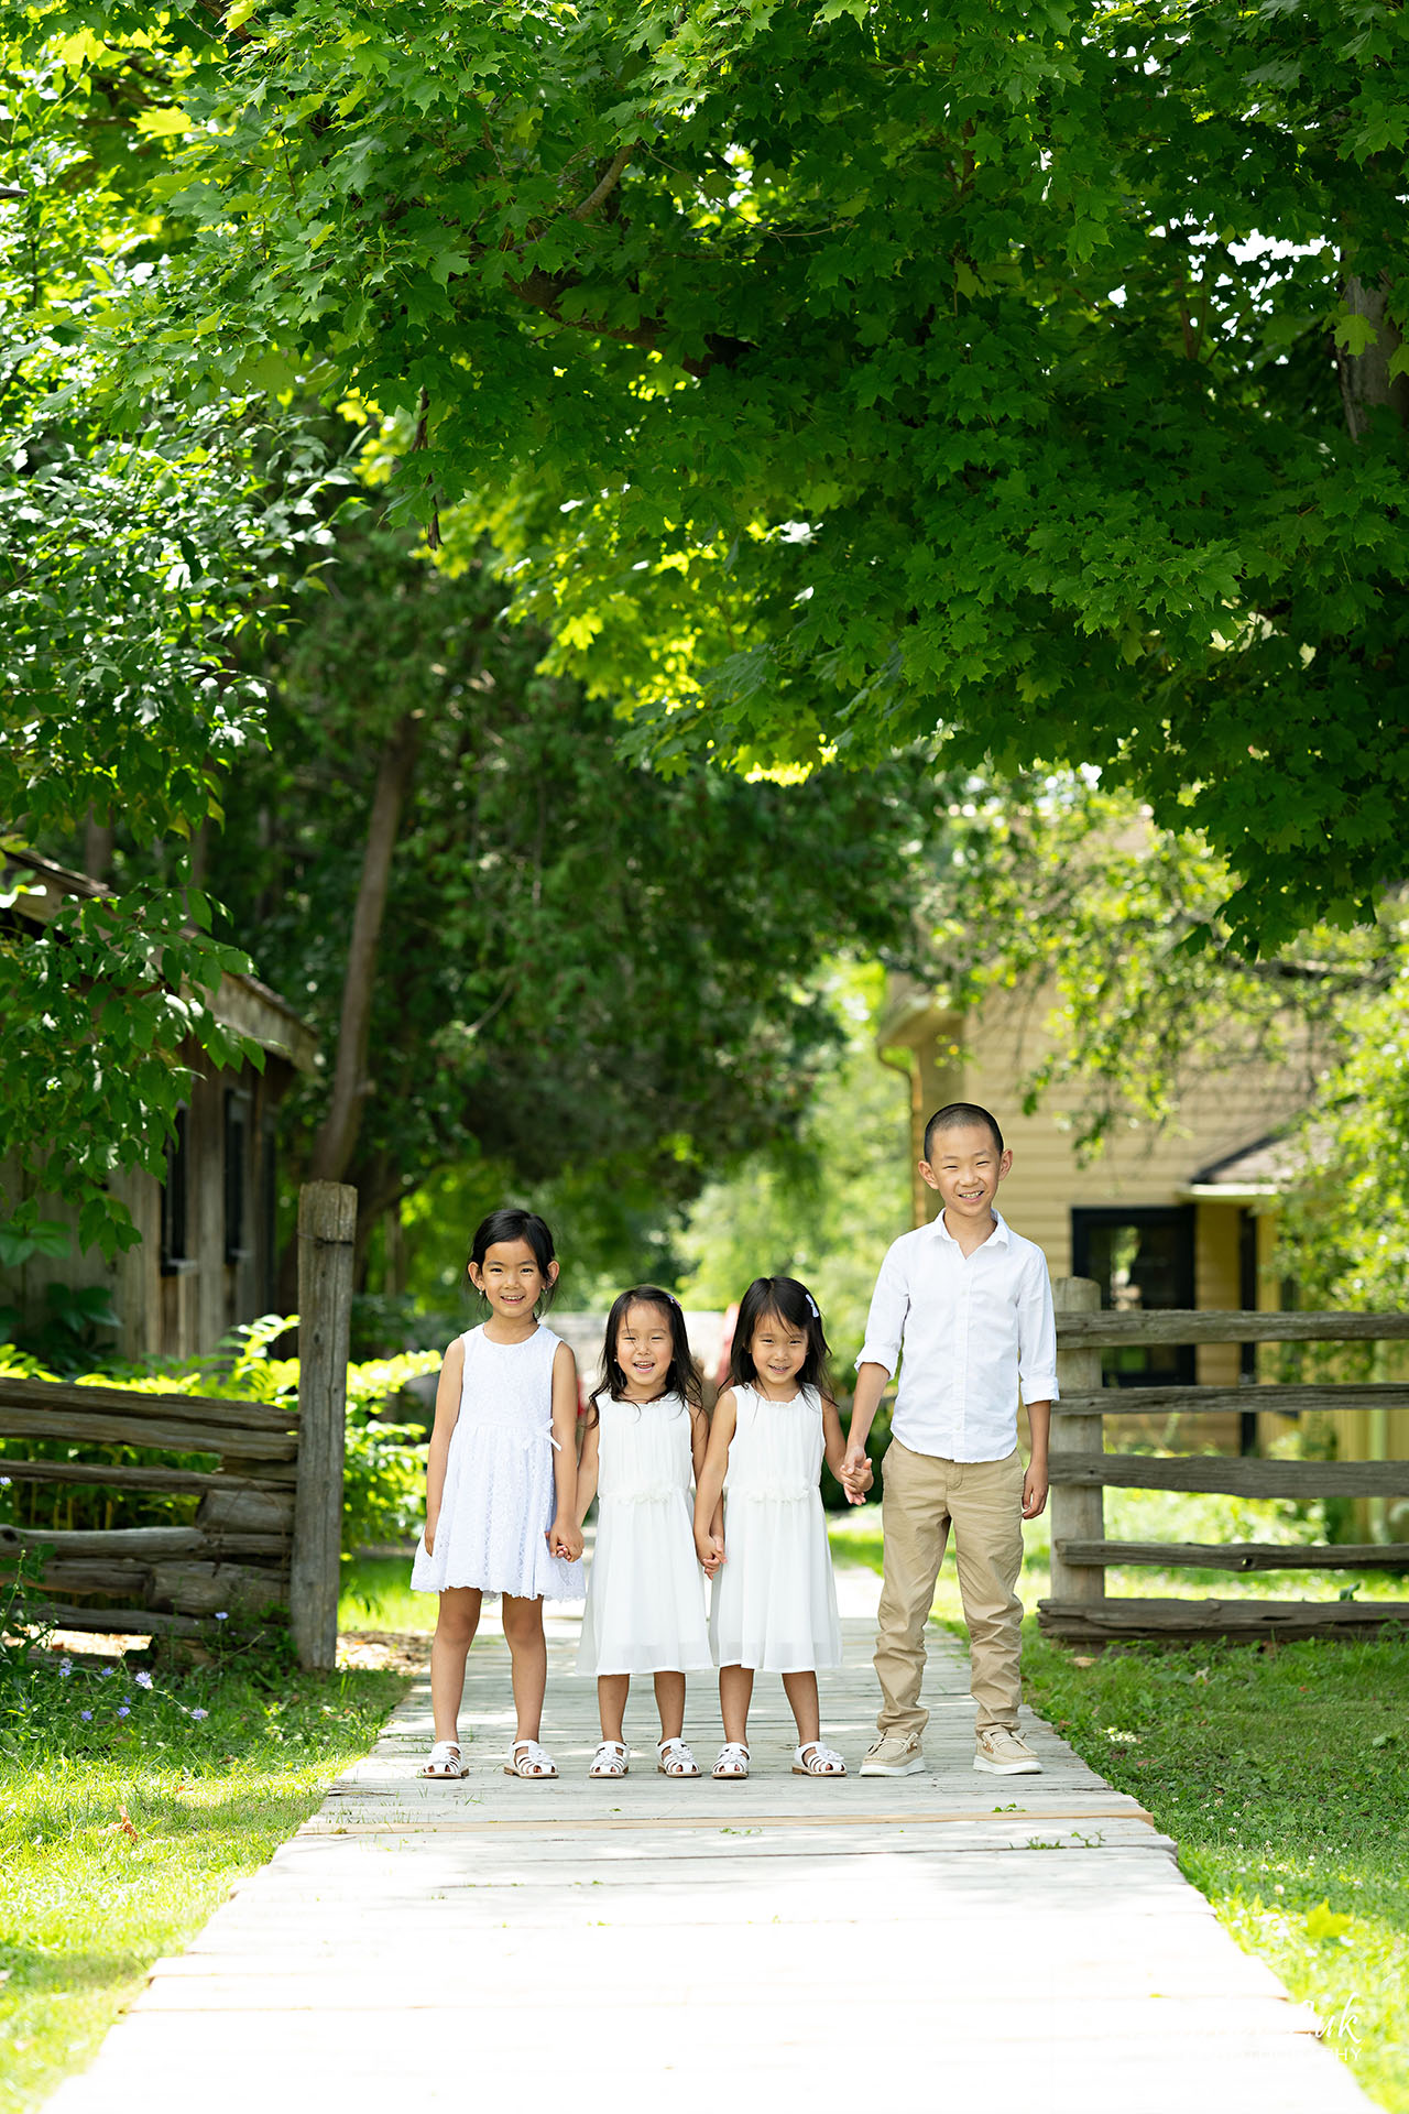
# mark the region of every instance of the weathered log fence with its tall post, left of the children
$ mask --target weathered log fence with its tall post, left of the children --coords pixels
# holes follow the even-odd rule
[[[287,1602],[300,1664],[332,1668],[355,1226],[357,1190],[336,1182],[302,1188],[296,1412],[211,1395],[0,1378],[0,1438],[213,1454],[220,1463],[0,1461],[13,1482],[201,1499],[190,1526],[0,1526],[0,1562],[25,1547],[40,1552],[44,1613],[55,1628],[201,1636],[222,1611]]]

